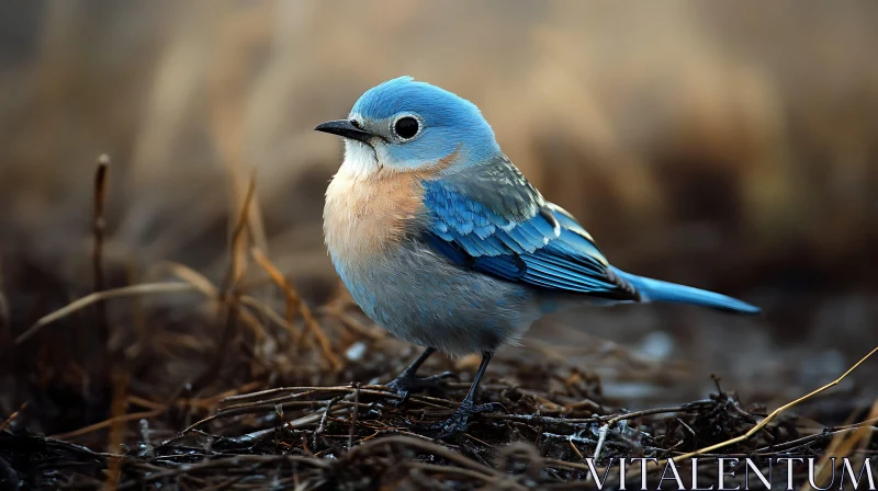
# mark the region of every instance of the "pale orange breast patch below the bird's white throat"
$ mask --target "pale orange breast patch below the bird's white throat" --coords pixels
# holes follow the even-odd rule
[[[365,261],[398,244],[425,215],[424,187],[408,172],[356,176],[344,169],[326,192],[324,233],[334,259]]]

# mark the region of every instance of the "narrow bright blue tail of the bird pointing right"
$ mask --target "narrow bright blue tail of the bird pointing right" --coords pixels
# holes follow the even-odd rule
[[[616,267],[614,267],[614,272],[638,289],[641,301],[693,304],[738,313],[755,315],[762,312],[762,309],[756,306],[725,295],[693,288],[691,286],[646,278],[626,273]]]

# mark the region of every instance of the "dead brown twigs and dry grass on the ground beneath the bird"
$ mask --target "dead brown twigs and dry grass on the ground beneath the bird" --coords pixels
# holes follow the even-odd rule
[[[221,286],[183,265],[168,264],[166,274],[178,281],[101,289],[106,171],[102,157],[92,220],[95,292],[40,318],[15,344],[45,336],[41,331],[72,316],[98,326],[97,334],[106,340],[97,345],[105,346],[98,354],[103,355],[104,368],[97,373],[102,378],[94,380],[101,390],[85,388],[68,397],[86,400],[61,403],[79,406],[97,399],[106,404],[109,418],[43,436],[26,427],[29,420],[52,424],[45,408],[38,402],[23,404],[0,425],[0,464],[5,472],[0,477],[15,486],[21,481],[25,488],[58,489],[574,489],[572,483],[582,486],[604,476],[601,458],[608,465],[619,457],[684,465],[691,456],[702,461],[720,456],[763,460],[823,456],[818,477],[825,480],[826,468],[835,465],[825,456],[862,459],[878,449],[870,443],[878,403],[860,423],[819,427],[783,413],[798,400],[767,414],[764,406],[743,406],[714,377],[716,392],[708,399],[629,411],[601,393],[598,377],[526,359],[507,361],[504,367],[521,384],[482,385],[481,401],[498,402],[505,412],[477,416],[448,442],[434,439],[429,423],[450,415],[469,384],[448,382],[438,393],[414,396],[401,409],[392,406],[398,396],[375,384],[375,375],[405,366],[405,358],[392,355],[399,343],[349,313],[344,297],[315,316],[260,249],[243,253],[252,242],[248,217],[254,179],[232,231],[229,265]],[[283,313],[260,300],[263,295],[252,292],[254,286],[243,284],[252,264],[282,294]],[[205,307],[215,310],[218,342],[204,353],[206,364],[182,386],[168,387],[162,385],[166,380],[153,380],[150,386],[138,373],[146,357],[153,357],[147,362],[153,365],[181,363],[173,351],[199,349],[202,343],[185,333],[168,333],[164,343],[151,340],[154,347],[164,344],[168,350],[164,358],[155,358],[161,354],[148,351],[143,340],[123,350],[120,340],[131,333],[110,322],[106,305],[116,298],[137,300],[185,290],[200,293]],[[348,345],[344,353],[341,344]],[[299,359],[291,363],[285,356]],[[842,381],[860,363],[802,400]],[[291,379],[345,376],[368,382],[273,387]],[[558,381],[560,389],[539,389],[547,380]],[[171,396],[155,399],[162,393]],[[593,467],[586,456],[595,459]],[[804,482],[806,476],[802,470],[797,479]],[[699,482],[707,486],[716,478],[701,472]],[[618,479],[610,477],[608,486],[618,484]]]

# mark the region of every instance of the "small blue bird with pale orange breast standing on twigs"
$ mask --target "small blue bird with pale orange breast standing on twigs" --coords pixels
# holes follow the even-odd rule
[[[323,210],[324,241],[353,300],[423,353],[386,385],[402,401],[451,374],[417,377],[437,351],[482,355],[454,413],[463,430],[492,357],[543,316],[583,306],[677,302],[758,315],[745,301],[627,273],[576,218],[547,201],[472,102],[404,76],[367,90],[348,117],[314,128],[344,139]]]

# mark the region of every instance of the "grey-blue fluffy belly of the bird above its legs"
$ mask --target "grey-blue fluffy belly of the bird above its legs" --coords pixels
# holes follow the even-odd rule
[[[452,356],[515,343],[540,317],[529,288],[461,270],[419,242],[394,247],[368,264],[333,262],[373,321]]]

